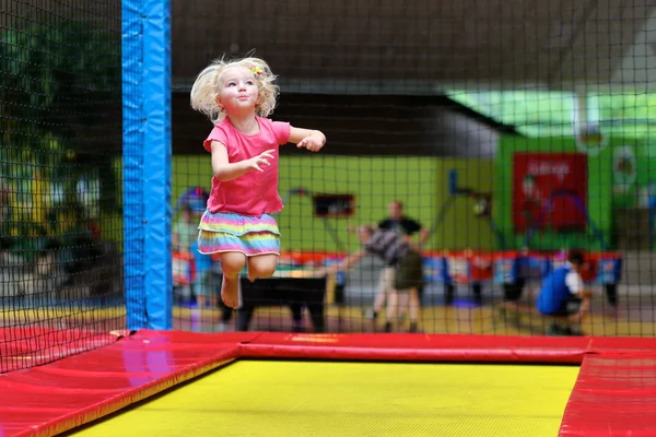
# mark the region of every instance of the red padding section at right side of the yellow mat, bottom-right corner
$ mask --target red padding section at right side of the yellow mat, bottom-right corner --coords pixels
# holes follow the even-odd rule
[[[586,355],[561,436],[655,436],[656,355]]]

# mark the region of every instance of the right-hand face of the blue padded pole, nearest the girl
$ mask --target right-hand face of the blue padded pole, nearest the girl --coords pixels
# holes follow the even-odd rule
[[[171,0],[143,0],[142,86],[148,328],[172,329]]]

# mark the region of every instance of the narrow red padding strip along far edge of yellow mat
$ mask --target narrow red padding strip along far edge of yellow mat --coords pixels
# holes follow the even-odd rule
[[[295,334],[265,332],[241,345],[244,358],[578,364],[589,339],[502,335]]]

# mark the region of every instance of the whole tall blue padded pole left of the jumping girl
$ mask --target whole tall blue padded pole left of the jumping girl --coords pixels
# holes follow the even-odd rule
[[[171,2],[122,0],[128,329],[171,329]]]

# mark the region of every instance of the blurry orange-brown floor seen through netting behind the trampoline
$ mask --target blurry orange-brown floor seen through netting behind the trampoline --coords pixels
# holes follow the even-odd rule
[[[648,306],[646,305],[648,304]],[[384,320],[373,322],[364,317],[364,307],[328,306],[326,309],[327,332],[376,332],[383,330]],[[522,328],[495,320],[493,305],[473,306],[466,300],[457,300],[455,306],[423,307],[420,318],[420,330],[425,333],[467,333],[467,334],[508,334],[536,335],[546,334],[550,321],[541,318],[525,319]],[[174,309],[174,329],[196,332],[234,331],[233,316],[222,323],[220,309],[181,308]],[[597,298],[593,303],[593,311],[582,324],[587,335],[656,335],[656,311],[651,303],[632,298],[620,305],[617,311]],[[303,326],[294,327],[291,311],[284,307],[260,307],[256,310],[250,324],[251,331],[293,331],[312,332],[309,315],[304,311]],[[403,318],[396,330],[405,332],[408,320]]]

